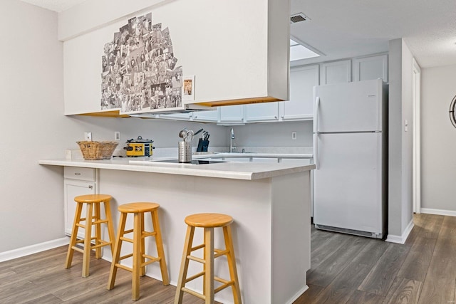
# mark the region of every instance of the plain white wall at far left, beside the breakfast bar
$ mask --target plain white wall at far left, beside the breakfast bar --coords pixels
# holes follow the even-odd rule
[[[14,26],[20,20],[25,23]],[[0,25],[1,252],[63,236],[60,170],[39,166],[38,159],[56,155],[68,125],[61,115],[63,61],[57,15],[6,0],[0,2]]]

